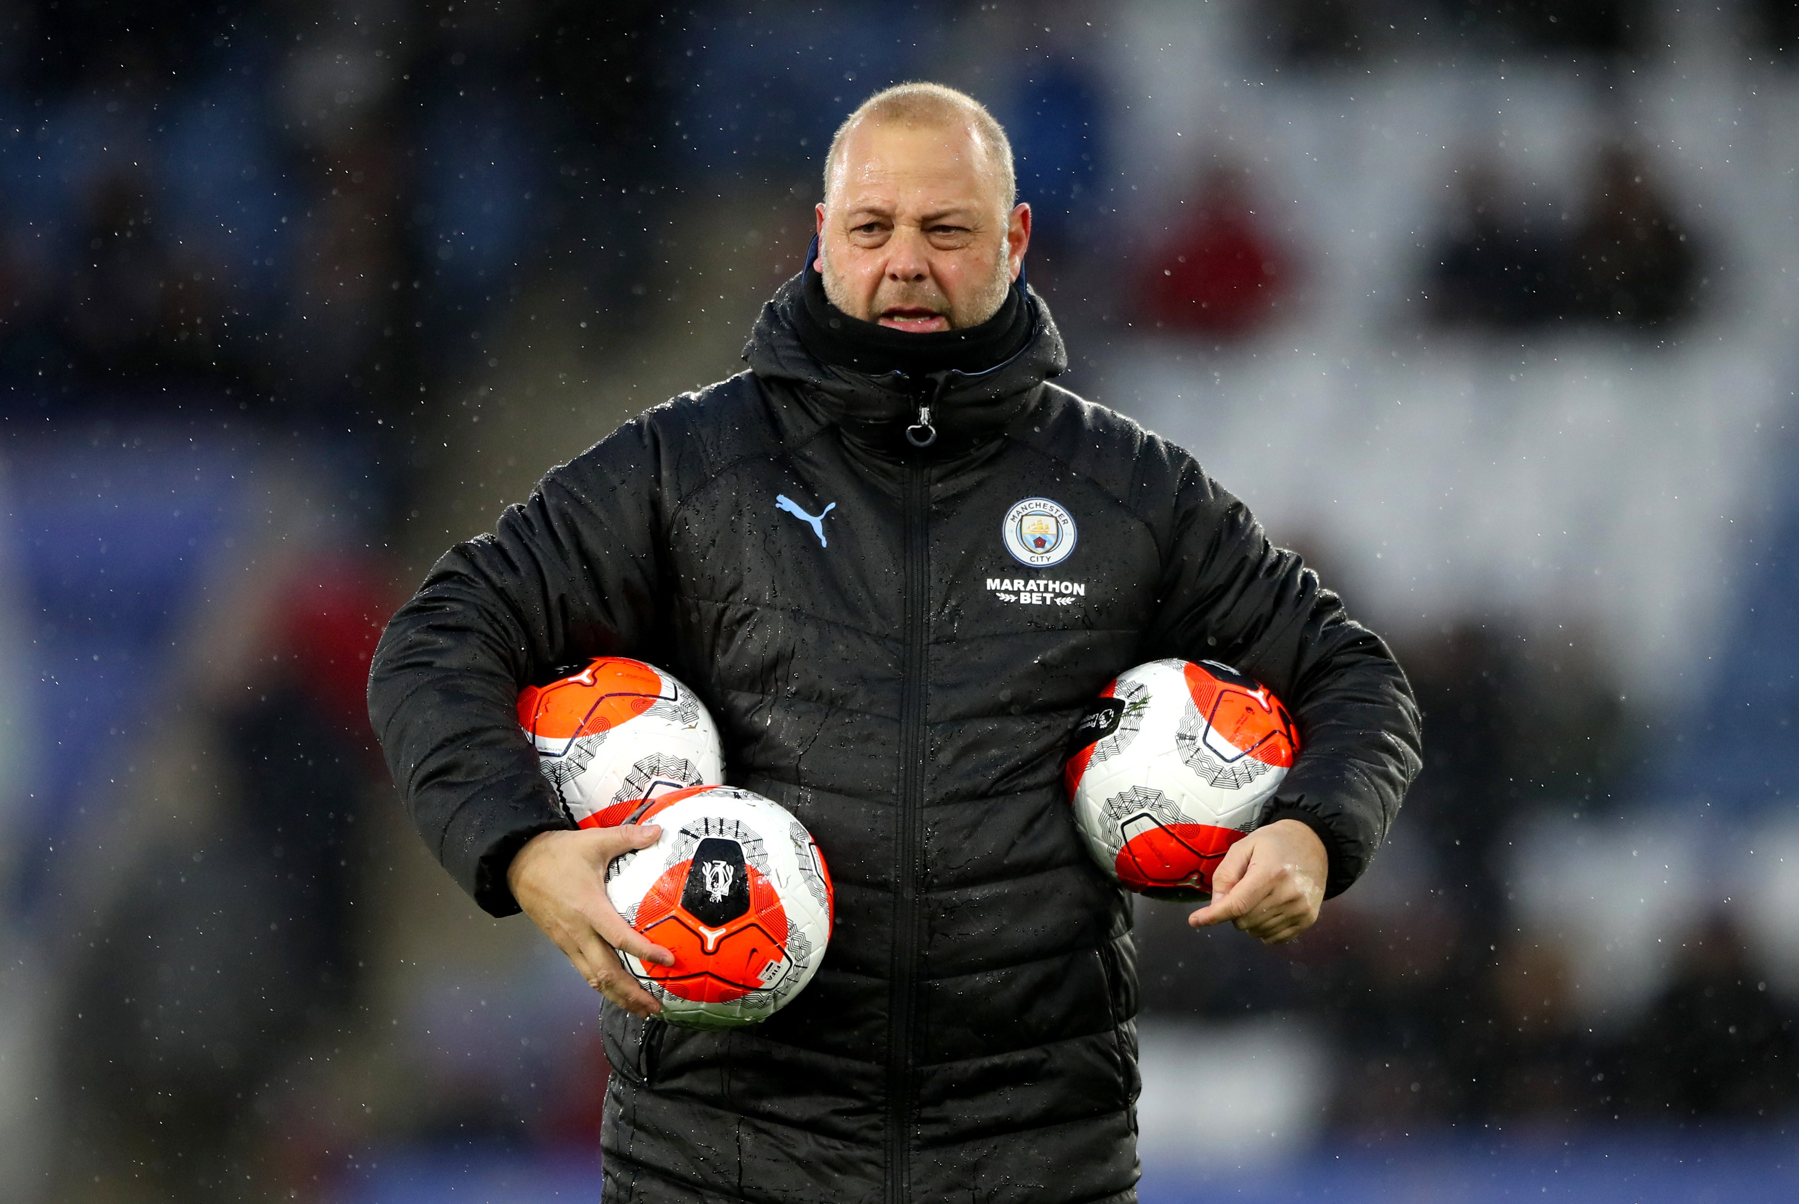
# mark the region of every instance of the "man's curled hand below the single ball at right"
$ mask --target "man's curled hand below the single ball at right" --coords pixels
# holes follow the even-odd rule
[[[1213,871],[1213,902],[1187,916],[1204,929],[1229,920],[1263,945],[1284,945],[1319,921],[1329,855],[1297,819],[1258,828]]]

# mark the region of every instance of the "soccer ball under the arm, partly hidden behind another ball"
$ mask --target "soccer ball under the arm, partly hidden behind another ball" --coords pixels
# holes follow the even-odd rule
[[[712,716],[671,673],[642,660],[595,657],[572,677],[527,686],[518,725],[579,828],[633,822],[671,790],[725,779]]]

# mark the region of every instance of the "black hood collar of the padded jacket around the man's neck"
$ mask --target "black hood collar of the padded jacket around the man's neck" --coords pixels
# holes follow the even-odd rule
[[[907,441],[907,428],[919,421],[919,407],[925,405],[937,432],[925,454],[966,452],[1036,405],[1043,382],[1069,367],[1049,306],[1029,286],[1024,290],[1031,308],[1029,340],[1016,355],[982,373],[952,369],[925,378],[905,373],[871,376],[822,364],[801,342],[795,326],[795,310],[804,304],[806,270],[810,266],[781,284],[763,306],[743,358],[757,378],[790,383],[801,405],[874,450],[917,454]]]

